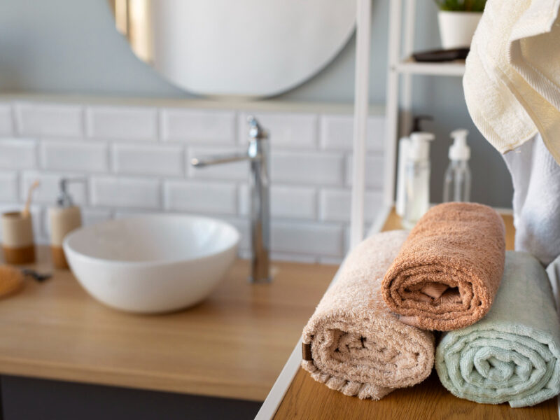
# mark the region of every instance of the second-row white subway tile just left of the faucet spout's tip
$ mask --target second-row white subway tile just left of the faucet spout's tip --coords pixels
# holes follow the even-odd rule
[[[117,174],[183,175],[183,147],[114,144],[113,170]]]

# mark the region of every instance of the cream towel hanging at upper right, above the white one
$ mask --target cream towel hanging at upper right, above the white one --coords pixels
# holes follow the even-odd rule
[[[505,153],[540,132],[560,162],[560,0],[489,0],[463,87],[472,120]]]

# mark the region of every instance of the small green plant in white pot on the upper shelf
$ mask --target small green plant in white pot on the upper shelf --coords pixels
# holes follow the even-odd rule
[[[470,46],[486,0],[435,0],[440,8],[437,20],[444,49]]]

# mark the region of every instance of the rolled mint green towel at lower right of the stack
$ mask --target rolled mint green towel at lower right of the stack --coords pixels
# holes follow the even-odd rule
[[[506,252],[489,313],[443,335],[435,368],[451,393],[476,402],[526,407],[560,392],[560,322],[538,260]]]

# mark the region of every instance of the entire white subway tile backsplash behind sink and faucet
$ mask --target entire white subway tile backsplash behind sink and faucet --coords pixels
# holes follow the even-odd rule
[[[227,104],[225,104],[227,107]],[[190,159],[246,153],[246,109],[0,102],[0,210],[21,209],[36,179],[34,224],[48,241],[47,209],[62,176],[83,223],[162,211],[223,218],[251,255],[248,162],[196,169]],[[271,257],[339,263],[348,248],[353,117],[259,111],[270,131]],[[368,119],[365,219],[381,207],[384,118]],[[162,140],[160,142],[159,140]],[[186,178],[186,179],[185,179]],[[3,203],[3,204],[2,204]],[[14,203],[14,204],[10,204]]]

